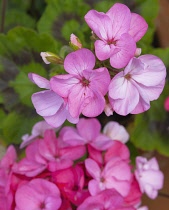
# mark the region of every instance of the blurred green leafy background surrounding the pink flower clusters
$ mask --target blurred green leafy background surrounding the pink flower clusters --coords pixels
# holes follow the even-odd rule
[[[63,71],[62,66],[46,65],[40,52],[50,51],[65,57],[69,53],[70,34],[90,48],[91,31],[84,21],[90,9],[106,12],[114,3],[126,4],[142,15],[148,25],[146,35],[137,43],[142,54],[159,56],[169,71],[169,1],[168,0],[0,0],[0,156],[9,144],[19,148],[22,135],[42,120],[31,103],[39,89],[27,74],[43,77]],[[147,112],[126,117],[99,116],[102,125],[110,120],[123,124],[130,133],[128,146],[132,160],[137,155],[156,156],[165,174],[164,188],[154,201],[146,196],[143,204],[150,210],[169,209],[169,112],[164,101],[169,96],[169,78],[157,101]]]

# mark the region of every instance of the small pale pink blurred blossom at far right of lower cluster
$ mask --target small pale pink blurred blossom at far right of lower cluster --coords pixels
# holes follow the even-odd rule
[[[151,199],[155,199],[158,190],[163,187],[164,175],[159,170],[158,162],[155,158],[149,161],[144,157],[136,158],[135,176],[142,193],[146,193]]]

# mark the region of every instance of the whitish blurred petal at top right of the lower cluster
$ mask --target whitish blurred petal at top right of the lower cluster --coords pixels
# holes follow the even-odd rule
[[[114,121],[110,121],[104,126],[103,134],[112,140],[121,141],[122,143],[126,143],[129,140],[129,134],[125,127]]]

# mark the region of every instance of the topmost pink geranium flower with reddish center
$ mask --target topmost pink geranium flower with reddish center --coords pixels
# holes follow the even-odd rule
[[[114,4],[107,13],[90,10],[85,21],[100,40],[95,42],[99,60],[110,58],[111,66],[125,67],[136,52],[136,42],[144,36],[148,25],[124,4]]]

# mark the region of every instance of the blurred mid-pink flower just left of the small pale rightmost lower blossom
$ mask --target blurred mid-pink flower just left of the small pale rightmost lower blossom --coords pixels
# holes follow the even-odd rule
[[[96,195],[105,189],[115,189],[122,196],[127,196],[131,184],[130,166],[119,157],[109,160],[104,168],[92,159],[85,160],[87,172],[93,178],[89,181],[88,189],[91,195]]]

